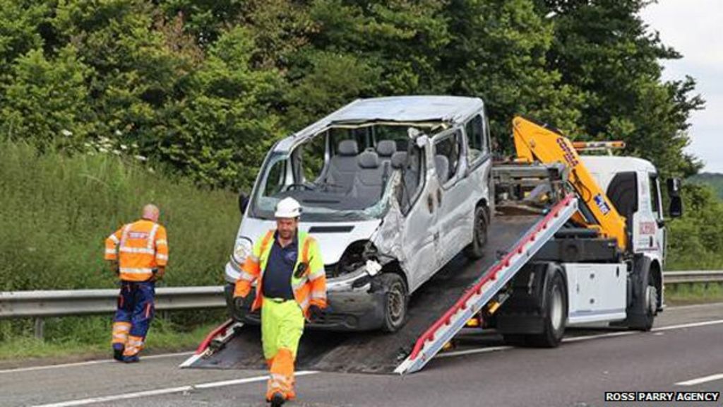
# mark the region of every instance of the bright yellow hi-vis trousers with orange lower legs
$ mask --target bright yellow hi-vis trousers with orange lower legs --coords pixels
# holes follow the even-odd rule
[[[269,365],[266,398],[281,393],[295,398],[294,360],[304,333],[304,314],[296,300],[264,298],[261,306],[261,342]]]

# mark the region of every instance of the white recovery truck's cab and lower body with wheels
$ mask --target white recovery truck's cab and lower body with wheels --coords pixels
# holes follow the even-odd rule
[[[561,135],[558,131],[554,131],[555,137]],[[539,134],[534,137],[537,143],[544,140]],[[562,142],[558,138],[549,145],[562,146]],[[562,147],[557,154],[570,154]],[[649,330],[654,316],[663,309],[666,231],[656,168],[649,161],[626,156],[570,156],[572,162],[577,159],[596,182],[594,187],[584,182],[575,186],[581,217],[595,224],[589,206],[602,208],[599,216],[603,216],[610,211],[607,205],[612,205],[617,211],[614,216],[619,214],[625,220],[627,247],[621,248],[619,240],[595,227],[568,222],[498,296],[502,306],[488,318],[488,326],[496,327],[510,343],[555,346],[565,326],[594,322]],[[556,164],[561,165],[560,161]],[[495,172],[497,183],[504,186],[500,175],[509,169],[502,166]],[[562,179],[568,176],[562,175]],[[579,180],[577,177],[572,178]],[[669,180],[668,187],[669,213],[678,217],[682,211],[680,181]],[[592,188],[602,190],[607,199],[593,196]],[[526,199],[526,193],[534,194],[528,188],[518,199]]]

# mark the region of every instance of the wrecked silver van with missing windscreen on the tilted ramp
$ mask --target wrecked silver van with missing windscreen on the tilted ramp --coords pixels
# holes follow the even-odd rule
[[[359,99],[279,140],[239,199],[244,218],[226,264],[231,316],[241,264],[291,196],[327,275],[328,312],[312,327],[398,330],[417,288],[461,251],[482,256],[491,169],[479,98]]]

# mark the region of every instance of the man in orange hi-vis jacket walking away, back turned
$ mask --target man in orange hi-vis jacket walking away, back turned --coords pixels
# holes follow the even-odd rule
[[[106,260],[121,279],[113,319],[113,357],[136,362],[153,319],[155,282],[168,264],[166,228],[158,224],[155,205],[143,207],[142,219],[124,225],[106,239]]]

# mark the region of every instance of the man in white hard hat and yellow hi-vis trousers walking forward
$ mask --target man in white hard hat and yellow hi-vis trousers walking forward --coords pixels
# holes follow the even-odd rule
[[[326,276],[319,245],[300,232],[301,206],[294,198],[276,205],[276,230],[254,243],[236,280],[234,302],[247,309],[245,300],[258,280],[251,311],[261,309],[261,341],[270,377],[266,400],[281,406],[293,400],[294,360],[304,332],[304,318],[315,322],[326,307]]]

